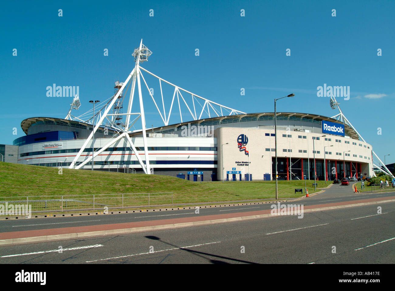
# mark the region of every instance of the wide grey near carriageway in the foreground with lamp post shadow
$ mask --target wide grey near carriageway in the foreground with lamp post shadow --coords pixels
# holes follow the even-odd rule
[[[305,213],[302,219],[275,216],[6,246],[0,247],[0,263],[394,263],[394,209],[389,202]]]

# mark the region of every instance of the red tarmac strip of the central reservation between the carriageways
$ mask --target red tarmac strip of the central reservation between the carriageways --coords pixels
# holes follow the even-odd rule
[[[304,206],[303,208],[305,210],[324,208],[324,207],[327,208],[327,207],[334,207],[334,206],[341,206],[341,205],[376,202],[376,201],[384,201],[384,200],[392,200],[392,199],[395,199],[395,196],[382,197],[382,198],[371,198],[371,199],[355,200],[355,201],[344,201],[344,202],[337,202],[337,203],[317,204],[317,205]],[[289,202],[289,204],[297,204],[296,202],[303,202],[303,201]],[[282,204],[284,204],[284,203],[282,203]],[[202,208],[202,210],[203,209],[204,208]],[[23,237],[39,237],[39,236],[45,236],[45,235],[60,235],[60,234],[66,234],[66,233],[81,233],[81,232],[103,231],[103,230],[112,230],[112,229],[138,228],[138,227],[145,227],[145,226],[159,226],[159,225],[165,225],[165,224],[197,222],[197,221],[216,220],[216,219],[242,217],[242,216],[245,217],[245,216],[269,214],[269,213],[271,213],[271,209],[258,210],[258,211],[246,211],[246,212],[238,212],[238,213],[205,215],[205,216],[193,216],[193,217],[185,217],[185,218],[168,218],[168,219],[161,219],[161,220],[125,222],[125,223],[115,223],[115,224],[99,224],[99,225],[94,225],[94,226],[75,226],[75,227],[68,227],[68,228],[49,228],[49,229],[27,230],[27,231],[11,231],[11,232],[0,233],[0,239],[17,239],[17,238],[23,238]]]

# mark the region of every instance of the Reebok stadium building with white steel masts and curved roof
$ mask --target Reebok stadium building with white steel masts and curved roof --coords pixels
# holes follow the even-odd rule
[[[371,144],[346,119],[334,97],[330,105],[340,113],[333,117],[297,112],[247,114],[147,71],[139,63],[147,61],[150,54],[141,42],[133,54],[134,69],[125,82],[115,83],[114,95],[96,112],[93,107],[93,112],[73,116],[73,110],[81,105],[76,96],[64,119],[24,119],[21,127],[26,135],[13,142],[19,146],[18,162],[171,175],[192,181],[273,180],[277,143],[278,179],[314,179],[314,174],[319,180],[374,176]],[[159,80],[161,100],[154,98],[143,72]],[[163,126],[146,126],[144,85],[145,96],[152,99]],[[168,111],[164,85],[174,89]],[[137,106],[133,105],[135,95]],[[90,102],[95,106],[96,101]],[[159,109],[162,105],[163,111]],[[169,124],[173,107],[178,107],[181,123]],[[188,112],[188,121],[182,121],[182,111]],[[137,121],[141,121],[141,129],[132,131]]]

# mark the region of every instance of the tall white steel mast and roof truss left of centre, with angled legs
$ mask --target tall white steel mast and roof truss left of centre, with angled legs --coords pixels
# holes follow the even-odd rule
[[[163,78],[160,78],[160,77],[154,75],[153,73],[147,71],[146,69],[144,69],[143,67],[140,66],[140,63],[147,61],[148,57],[151,54],[152,54],[152,52],[149,49],[147,49],[147,47],[145,47],[145,45],[143,45],[143,40],[141,40],[139,48],[135,49],[132,54],[134,56],[134,60],[135,60],[134,69],[132,70],[132,72],[130,72],[130,74],[129,74],[128,78],[126,78],[125,82],[120,83],[120,84],[122,84],[122,87],[119,89],[117,94],[115,94],[114,96],[112,96],[111,98],[106,100],[107,103],[105,103],[102,106],[102,108],[100,108],[100,109],[98,108],[98,111],[95,112],[95,116],[92,116],[89,119],[87,119],[87,121],[84,121],[86,123],[94,124],[94,129],[90,133],[88,138],[85,140],[83,146],[81,147],[81,149],[79,150],[79,152],[77,153],[75,158],[73,159],[73,162],[71,162],[70,167],[69,167],[70,169],[71,168],[75,168],[75,169],[81,168],[82,166],[87,164],[87,162],[90,162],[92,159],[94,159],[94,157],[96,157],[97,155],[102,153],[102,151],[104,151],[108,147],[111,147],[111,145],[113,145],[116,142],[119,142],[120,140],[123,139],[126,142],[126,144],[128,145],[128,147],[130,147],[132,149],[132,151],[134,152],[137,160],[139,161],[139,164],[141,165],[141,168],[143,169],[143,172],[146,174],[151,173],[150,163],[149,163],[149,155],[148,155],[148,147],[147,147],[147,134],[146,134],[146,131],[148,129],[146,127],[146,122],[145,122],[141,79],[143,79],[143,83],[148,91],[150,98],[152,99],[152,101],[156,107],[156,110],[158,110],[159,116],[162,119],[164,126],[169,125],[170,116],[171,116],[171,113],[173,110],[173,105],[175,103],[176,97],[177,97],[177,103],[178,103],[178,107],[179,107],[179,114],[180,114],[181,122],[183,122],[182,121],[181,106],[185,106],[186,109],[188,110],[188,114],[187,114],[188,120],[190,120],[190,118],[189,118],[189,115],[190,115],[190,117],[192,117],[192,120],[194,120],[194,121],[201,119],[202,116],[205,116],[205,117],[208,116],[208,118],[211,118],[211,116],[220,117],[220,116],[245,114],[245,112],[241,112],[239,110],[235,110],[235,109],[229,108],[227,106],[215,103],[215,102],[205,99],[199,95],[196,95],[190,91],[182,89],[181,87],[176,86],[176,85],[164,80]],[[158,104],[156,103],[156,101],[150,91],[150,88],[149,88],[149,86],[142,74],[142,71],[153,76],[154,78],[156,78],[159,81],[163,111],[161,109],[159,109]],[[164,96],[164,93],[162,91],[162,83],[166,83],[174,88],[173,96],[171,99],[171,105],[170,105],[170,108],[168,109],[168,111],[166,111],[166,106],[165,106],[165,102],[164,102],[166,99],[166,96]],[[124,92],[126,85],[128,85],[128,88],[129,88],[129,86],[131,86],[129,100],[127,103],[125,103],[125,104],[128,104],[126,113],[119,114],[117,112],[114,112],[113,114],[109,114],[109,111],[111,109],[113,109],[114,103],[117,102],[119,95],[122,92]],[[139,96],[139,108],[140,109],[139,109],[139,112],[133,113],[132,112],[132,105],[133,105],[136,85],[137,85],[137,92],[138,92],[138,96]],[[126,91],[128,91],[128,89],[126,89],[125,92]],[[184,93],[184,95],[182,95],[183,93]],[[190,96],[187,97],[187,95],[190,95]],[[124,94],[124,99],[126,99],[126,93]],[[125,101],[124,99],[122,99],[122,102]],[[189,104],[187,102],[188,100],[190,100]],[[104,101],[104,102],[106,102],[106,101]],[[78,108],[73,107],[73,104],[71,104],[71,105],[72,106],[70,108],[70,112],[73,108],[78,109]],[[91,110],[89,110],[85,114],[83,114],[79,117],[75,117],[75,116],[72,116],[70,114],[70,112],[66,116],[66,119],[79,120],[79,121],[83,121],[84,117],[86,118],[89,114],[91,114]],[[121,127],[118,127],[117,125],[115,125],[114,120],[113,120],[114,116],[119,116],[119,115],[126,116],[126,121],[125,121],[124,125]],[[137,117],[134,119],[131,119],[130,116],[132,116],[132,115],[137,115]],[[136,147],[133,144],[132,139],[129,136],[129,134],[132,133],[132,131],[130,131],[131,127],[135,124],[137,119],[139,119],[140,117],[141,117],[141,133],[142,133],[143,144],[144,144],[145,164],[144,164],[144,161],[140,158],[139,154],[137,153]],[[115,134],[112,138],[106,139],[106,140],[108,140],[108,142],[107,142],[107,144],[105,144],[102,147],[102,149],[100,149],[99,151],[94,151],[94,145],[92,144],[93,134],[98,130],[99,127],[104,127],[104,126],[111,127],[112,129],[114,129],[117,132],[117,134]],[[93,154],[89,155],[82,162],[77,162],[77,160],[81,157],[81,154],[83,153],[83,151],[85,150],[85,148],[88,146],[89,143],[92,144],[92,149],[94,151]]]

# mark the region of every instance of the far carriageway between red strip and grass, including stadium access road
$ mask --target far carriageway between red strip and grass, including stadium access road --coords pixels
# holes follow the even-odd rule
[[[352,192],[352,186],[340,186],[333,185],[329,189],[325,189],[325,192],[317,194],[309,198],[303,198],[295,203],[307,205],[318,205],[327,204],[342,201],[353,201],[367,198],[384,198],[394,196],[395,192],[387,193],[364,193],[354,194]],[[249,204],[252,203],[252,204]],[[243,213],[248,211],[258,211],[271,209],[271,203],[266,204],[254,204],[249,202],[248,205],[237,205],[227,207],[209,207],[200,208],[199,214],[195,213],[195,209],[180,209],[180,210],[168,210],[168,211],[149,211],[149,212],[137,212],[137,213],[123,213],[123,214],[107,214],[107,215],[89,215],[89,216],[56,216],[47,218],[30,218],[30,219],[10,219],[0,220],[0,233],[10,231],[26,231],[36,229],[48,229],[48,228],[64,228],[71,226],[92,226],[98,224],[116,224],[124,222],[138,222],[148,220],[162,220],[170,218],[185,218],[190,216],[205,216],[205,215],[216,215],[225,213]],[[256,203],[256,202],[255,202]],[[288,203],[288,202],[287,202]],[[229,204],[229,203],[228,203]],[[232,203],[233,204],[233,203]],[[238,203],[241,204],[241,203]],[[223,204],[222,204],[223,205]],[[171,209],[167,208],[167,209]]]

